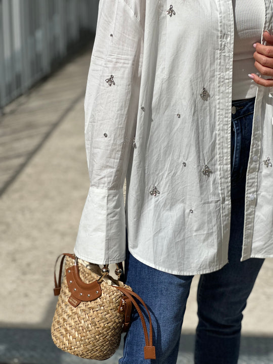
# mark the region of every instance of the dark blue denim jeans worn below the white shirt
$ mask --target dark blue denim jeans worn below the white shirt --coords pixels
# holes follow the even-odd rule
[[[240,261],[242,253],[246,170],[249,158],[255,99],[233,102],[232,113],[232,213],[229,263],[201,275],[198,285],[198,318],[195,364],[238,362],[242,311],[263,259]],[[175,364],[180,332],[193,276],[177,276],[151,268],[129,252],[126,283],[148,305],[153,321],[156,360],[145,360],[141,320],[133,312],[119,364]]]

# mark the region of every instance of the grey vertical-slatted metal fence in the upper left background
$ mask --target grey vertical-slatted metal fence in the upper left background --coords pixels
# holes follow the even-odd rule
[[[99,0],[0,0],[0,109],[96,31]]]

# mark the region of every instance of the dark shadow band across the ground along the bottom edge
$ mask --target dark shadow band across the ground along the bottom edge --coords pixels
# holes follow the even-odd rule
[[[90,364],[98,360],[81,359],[59,350],[49,329],[0,329],[0,364]],[[193,364],[194,335],[182,334],[177,364]],[[103,362],[117,364],[122,345],[115,355]],[[242,337],[239,364],[272,364],[272,337]]]

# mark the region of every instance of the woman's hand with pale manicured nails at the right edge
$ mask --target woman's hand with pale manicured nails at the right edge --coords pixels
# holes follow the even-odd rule
[[[261,75],[273,77],[273,36],[265,31],[263,37],[266,40],[267,45],[260,43],[253,44],[253,47],[256,49],[256,52],[253,55],[255,59],[254,65]],[[262,86],[273,86],[273,79],[264,79],[255,73],[249,74],[249,77]]]

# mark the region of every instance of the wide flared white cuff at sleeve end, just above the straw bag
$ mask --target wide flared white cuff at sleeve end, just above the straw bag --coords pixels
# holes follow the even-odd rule
[[[125,259],[123,190],[89,188],[74,253],[80,259],[112,264]]]

